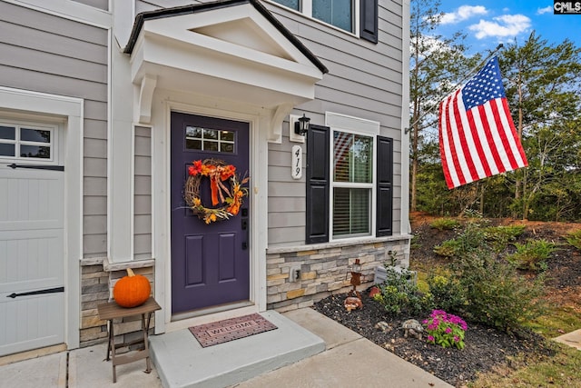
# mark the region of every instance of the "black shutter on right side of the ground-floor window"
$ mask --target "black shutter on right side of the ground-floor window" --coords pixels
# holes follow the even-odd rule
[[[393,139],[378,136],[376,236],[393,233]]]

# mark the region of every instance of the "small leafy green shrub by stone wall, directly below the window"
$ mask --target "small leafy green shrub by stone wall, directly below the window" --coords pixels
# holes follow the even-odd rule
[[[373,299],[381,303],[388,313],[420,313],[431,307],[429,295],[419,293],[418,286],[411,282],[414,274],[406,269],[396,270],[391,265],[385,266],[385,282],[379,284],[379,293]]]

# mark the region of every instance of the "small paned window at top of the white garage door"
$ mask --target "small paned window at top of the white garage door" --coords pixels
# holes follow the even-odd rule
[[[58,125],[6,120],[0,117],[0,159],[58,163]]]

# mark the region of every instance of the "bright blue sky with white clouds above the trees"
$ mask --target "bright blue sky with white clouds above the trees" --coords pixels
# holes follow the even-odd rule
[[[446,15],[438,34],[466,33],[468,53],[486,55],[499,43],[522,43],[532,31],[549,44],[568,38],[581,47],[581,15],[553,15],[553,1],[441,0],[440,10]]]

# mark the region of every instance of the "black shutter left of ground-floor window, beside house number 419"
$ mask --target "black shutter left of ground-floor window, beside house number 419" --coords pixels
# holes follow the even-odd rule
[[[329,241],[329,133],[328,126],[310,124],[307,134],[306,244]]]

